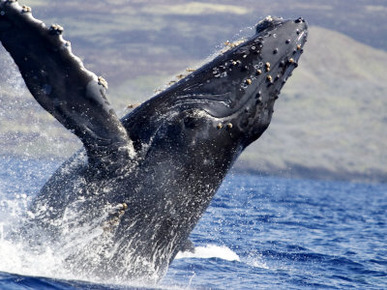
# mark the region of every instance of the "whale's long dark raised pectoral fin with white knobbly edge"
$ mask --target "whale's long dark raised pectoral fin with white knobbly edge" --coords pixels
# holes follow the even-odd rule
[[[34,98],[81,139],[89,161],[128,158],[131,140],[106,98],[106,81],[85,69],[62,32],[33,18],[29,7],[0,0],[0,41]]]

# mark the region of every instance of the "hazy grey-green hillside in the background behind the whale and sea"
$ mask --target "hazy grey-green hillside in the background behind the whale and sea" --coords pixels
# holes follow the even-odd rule
[[[286,10],[282,2],[271,8],[261,1],[252,8],[247,0],[238,5],[124,0],[22,4],[33,6],[34,15],[46,23],[65,27],[73,51],[109,81],[110,98],[122,115],[127,104],[145,100],[174,74],[200,64],[224,41],[251,34],[249,26],[267,14],[302,12],[310,15],[310,23],[319,23],[321,17],[313,15],[323,7],[322,1],[308,5],[290,1],[294,5],[281,14]],[[348,5],[332,1],[319,13],[329,20],[347,9],[354,17],[368,7],[366,14],[376,23],[382,21],[377,16],[383,6],[371,9],[368,2],[359,1],[348,10]],[[343,30],[347,21],[346,33],[351,35],[358,24],[347,18],[340,18],[336,28]],[[328,20],[321,25],[332,26]],[[375,26],[369,22],[363,26],[370,31],[371,24]],[[361,39],[355,32],[352,37]],[[383,31],[370,33],[376,42],[380,35]],[[300,67],[276,103],[271,126],[242,155],[237,168],[288,176],[387,180],[387,53],[364,44],[377,47],[375,41],[360,43],[353,38],[312,26]],[[36,104],[2,48],[0,70],[0,155],[65,159],[77,150],[77,138]]]

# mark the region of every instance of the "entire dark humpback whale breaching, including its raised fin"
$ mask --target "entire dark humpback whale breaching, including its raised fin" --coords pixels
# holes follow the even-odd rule
[[[71,53],[62,30],[0,0],[1,43],[34,98],[84,145],[37,195],[23,235],[63,246],[71,233],[99,228],[69,250],[69,267],[157,280],[237,157],[269,126],[307,24],[267,17],[251,38],[122,119],[106,99],[107,83]]]

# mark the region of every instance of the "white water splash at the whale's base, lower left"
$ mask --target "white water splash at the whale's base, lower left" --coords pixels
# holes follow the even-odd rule
[[[0,192],[0,196],[5,195]],[[60,233],[58,241],[40,236],[30,243],[31,239],[42,235],[42,232],[39,229],[29,229],[28,239],[21,233],[20,225],[27,220],[22,212],[27,212],[26,200],[29,197],[19,196],[16,199],[3,199],[0,203],[0,272],[111,285],[146,286],[141,281],[128,280],[121,276],[102,279],[93,275],[93,266],[101,259],[111,256],[115,250],[109,245],[109,232],[101,227],[103,220],[113,210],[111,206],[103,210],[104,214],[98,219],[90,224],[81,223],[81,226],[75,224],[80,221],[79,206],[82,207],[82,202],[77,202],[67,209],[63,217],[63,233]],[[88,261],[87,264],[79,263],[83,258]]]

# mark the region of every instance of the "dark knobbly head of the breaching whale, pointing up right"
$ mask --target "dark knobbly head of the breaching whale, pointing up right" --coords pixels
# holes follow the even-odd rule
[[[222,155],[219,160],[233,155],[232,163],[259,138],[281,88],[298,66],[307,23],[269,16],[254,32],[249,39],[228,43],[212,61],[124,118],[137,148],[152,142],[192,158],[200,152]]]

